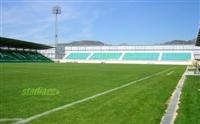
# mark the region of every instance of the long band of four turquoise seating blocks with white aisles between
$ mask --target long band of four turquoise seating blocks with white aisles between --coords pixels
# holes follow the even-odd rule
[[[123,61],[188,61],[189,52],[71,52],[68,60],[123,60]]]

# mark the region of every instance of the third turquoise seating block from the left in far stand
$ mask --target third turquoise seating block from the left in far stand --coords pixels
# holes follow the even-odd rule
[[[160,53],[126,53],[123,60],[158,60]]]

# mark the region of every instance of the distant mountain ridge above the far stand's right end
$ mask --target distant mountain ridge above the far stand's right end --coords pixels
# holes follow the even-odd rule
[[[161,43],[161,45],[193,45],[195,44],[195,39],[192,40],[172,40]]]

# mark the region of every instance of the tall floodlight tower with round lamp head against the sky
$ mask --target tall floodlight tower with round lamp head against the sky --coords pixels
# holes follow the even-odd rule
[[[58,15],[61,14],[61,8],[54,6],[52,13],[55,15],[55,59],[58,59]]]

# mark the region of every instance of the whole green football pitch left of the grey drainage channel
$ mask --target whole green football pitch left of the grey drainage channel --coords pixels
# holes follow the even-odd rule
[[[0,123],[33,124],[159,124],[186,68],[53,63],[0,67]]]

